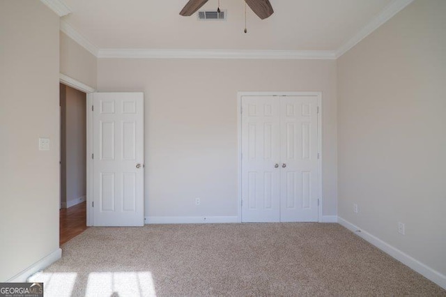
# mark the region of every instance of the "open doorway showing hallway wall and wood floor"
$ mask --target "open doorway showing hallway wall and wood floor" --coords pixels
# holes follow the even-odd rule
[[[86,230],[86,93],[60,84],[59,243]]]

